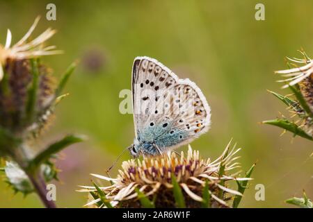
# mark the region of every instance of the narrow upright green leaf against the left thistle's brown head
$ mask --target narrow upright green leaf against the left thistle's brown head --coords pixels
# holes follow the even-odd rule
[[[29,88],[27,103],[26,103],[26,121],[31,122],[35,116],[35,105],[37,101],[37,91],[39,85],[39,71],[38,62],[31,59],[31,73],[33,75],[33,82]]]

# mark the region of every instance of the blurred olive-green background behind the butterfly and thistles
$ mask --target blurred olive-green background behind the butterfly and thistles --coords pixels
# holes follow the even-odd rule
[[[56,21],[47,21],[47,3],[56,4]],[[266,20],[255,20],[256,3],[264,3]],[[131,114],[120,114],[121,89],[131,87],[136,56],[157,58],[177,75],[191,78],[207,96],[212,110],[209,133],[192,143],[202,156],[218,157],[231,138],[242,148],[243,171],[257,167],[241,207],[291,207],[284,200],[313,198],[312,142],[259,122],[285,113],[269,94],[289,94],[275,83],[274,70],[286,68],[284,56],[313,55],[313,2],[300,1],[0,1],[0,42],[6,29],[19,40],[37,15],[35,34],[51,26],[49,40],[65,53],[44,58],[57,77],[73,60],[80,65],[67,85],[45,138],[65,133],[88,135],[87,142],[63,151],[57,186],[59,207],[81,207],[86,196],[75,191],[89,185],[89,173],[104,174],[118,153],[134,139]],[[33,36],[35,36],[35,34]],[[186,150],[186,147],[182,147]],[[127,160],[129,155],[123,155]],[[118,165],[120,162],[118,163]],[[114,176],[118,166],[113,169]],[[255,200],[255,185],[266,188]],[[42,207],[38,197],[14,195],[0,182],[0,207]]]

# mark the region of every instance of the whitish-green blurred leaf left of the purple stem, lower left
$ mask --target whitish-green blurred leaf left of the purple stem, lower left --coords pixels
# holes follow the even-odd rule
[[[31,180],[15,162],[6,162],[4,171],[6,172],[8,184],[15,192],[20,191],[26,195],[34,191]]]

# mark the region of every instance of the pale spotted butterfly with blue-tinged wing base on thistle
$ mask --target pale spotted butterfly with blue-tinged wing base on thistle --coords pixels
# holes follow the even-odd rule
[[[200,88],[154,58],[136,57],[131,77],[133,157],[162,155],[209,130],[211,110]]]

